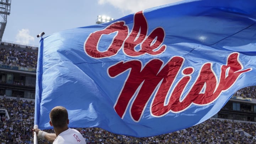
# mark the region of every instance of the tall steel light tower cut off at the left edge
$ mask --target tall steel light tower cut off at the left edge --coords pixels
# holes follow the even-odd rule
[[[4,35],[5,26],[7,23],[7,15],[10,15],[11,10],[11,0],[1,0],[0,1],[0,15],[2,21],[0,22],[0,41],[2,41],[2,36]]]

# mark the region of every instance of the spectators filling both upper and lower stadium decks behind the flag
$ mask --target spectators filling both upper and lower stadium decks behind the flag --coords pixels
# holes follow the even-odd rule
[[[36,69],[37,49],[33,50],[31,47],[21,48],[17,44],[1,43],[0,64]],[[14,85],[23,84],[15,81]],[[255,99],[256,86],[241,89],[235,95]],[[18,100],[16,97],[13,97],[13,99],[0,98],[0,108],[6,109],[10,116],[10,119],[0,116],[0,144],[33,143],[34,102]],[[148,138],[113,134],[101,128],[78,128],[78,130],[86,139],[87,144],[256,143],[256,122],[214,118],[187,129]],[[54,132],[53,129],[47,131]],[[46,140],[39,139],[38,141],[40,144],[48,144]]]

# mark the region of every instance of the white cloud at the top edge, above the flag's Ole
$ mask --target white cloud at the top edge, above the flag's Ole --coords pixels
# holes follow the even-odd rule
[[[110,4],[122,11],[138,12],[150,7],[166,5],[181,0],[98,0],[98,4]]]

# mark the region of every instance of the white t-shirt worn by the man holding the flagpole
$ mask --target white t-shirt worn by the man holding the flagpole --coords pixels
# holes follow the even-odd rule
[[[78,130],[69,128],[60,133],[53,144],[86,144],[86,142]]]

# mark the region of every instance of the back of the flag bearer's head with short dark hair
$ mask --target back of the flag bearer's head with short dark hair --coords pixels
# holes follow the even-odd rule
[[[50,111],[50,121],[53,127],[62,128],[68,121],[68,111],[63,106],[56,106]]]

